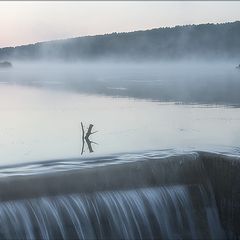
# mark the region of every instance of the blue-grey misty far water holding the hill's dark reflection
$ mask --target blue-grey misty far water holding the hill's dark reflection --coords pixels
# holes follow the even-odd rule
[[[236,61],[15,63],[1,82],[157,101],[239,105]]]

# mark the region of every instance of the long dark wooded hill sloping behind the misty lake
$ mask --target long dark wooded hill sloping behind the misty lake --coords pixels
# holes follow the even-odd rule
[[[240,22],[158,28],[0,49],[2,60],[239,58]]]

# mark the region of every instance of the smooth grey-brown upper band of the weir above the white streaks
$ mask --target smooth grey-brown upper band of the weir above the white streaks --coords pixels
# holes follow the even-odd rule
[[[0,178],[0,200],[161,185],[206,185],[208,179],[205,174],[197,153],[150,158],[86,169]]]

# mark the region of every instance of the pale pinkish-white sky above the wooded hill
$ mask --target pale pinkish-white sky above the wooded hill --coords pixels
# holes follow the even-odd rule
[[[0,47],[111,32],[240,20],[240,2],[0,1]]]

